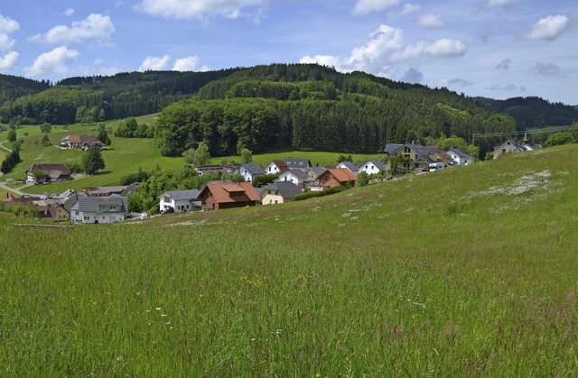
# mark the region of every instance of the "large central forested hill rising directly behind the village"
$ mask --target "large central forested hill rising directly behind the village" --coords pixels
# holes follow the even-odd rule
[[[447,89],[319,65],[241,69],[172,104],[157,121],[165,155],[207,143],[213,156],[299,149],[378,152],[387,143],[516,131],[509,116]],[[496,141],[482,141],[480,151]],[[486,143],[487,145],[485,145]]]

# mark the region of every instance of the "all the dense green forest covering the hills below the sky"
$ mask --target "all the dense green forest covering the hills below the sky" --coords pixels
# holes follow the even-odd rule
[[[386,143],[572,124],[573,106],[539,97],[465,97],[317,64],[210,72],[145,71],[66,78],[53,84],[0,75],[0,122],[73,124],[162,112],[164,155],[207,143],[213,156],[299,149],[378,152]],[[480,155],[494,143],[480,139]]]

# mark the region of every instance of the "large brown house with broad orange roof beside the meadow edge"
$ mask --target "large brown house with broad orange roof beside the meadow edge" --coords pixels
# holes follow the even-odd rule
[[[202,210],[221,210],[226,208],[256,206],[261,197],[250,182],[208,182],[200,189],[199,197]]]

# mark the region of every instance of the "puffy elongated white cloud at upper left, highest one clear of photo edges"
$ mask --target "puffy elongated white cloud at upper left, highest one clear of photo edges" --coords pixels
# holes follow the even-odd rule
[[[57,25],[45,34],[29,37],[28,41],[69,44],[96,40],[99,43],[107,43],[113,32],[115,32],[115,25],[109,16],[89,14],[86,19],[73,22],[71,27]]]

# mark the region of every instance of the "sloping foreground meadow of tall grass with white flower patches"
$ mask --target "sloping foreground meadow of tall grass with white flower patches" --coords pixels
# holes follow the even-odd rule
[[[575,376],[577,152],[137,223],[0,216],[0,373]]]

